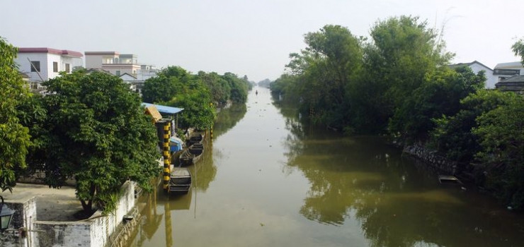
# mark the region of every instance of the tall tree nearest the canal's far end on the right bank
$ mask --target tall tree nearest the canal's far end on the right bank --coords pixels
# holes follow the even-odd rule
[[[295,78],[287,80],[286,94],[300,97],[302,112],[315,123],[342,128],[350,117],[348,88],[360,70],[361,40],[347,28],[326,25],[304,35],[304,42],[306,49],[290,54],[287,68]]]

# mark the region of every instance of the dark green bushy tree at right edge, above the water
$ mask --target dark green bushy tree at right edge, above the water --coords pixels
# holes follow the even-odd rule
[[[477,118],[472,129],[482,151],[477,158],[486,171],[486,187],[504,203],[524,207],[524,98],[511,97]]]

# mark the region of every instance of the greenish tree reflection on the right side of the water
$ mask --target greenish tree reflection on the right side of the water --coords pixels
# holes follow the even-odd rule
[[[343,138],[300,123],[282,102],[287,166],[309,180],[300,214],[342,227],[357,222],[369,246],[524,246],[522,215],[474,188],[443,187],[437,174],[387,140]]]

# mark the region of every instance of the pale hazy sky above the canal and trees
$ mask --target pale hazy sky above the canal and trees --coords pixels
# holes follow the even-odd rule
[[[1,0],[0,37],[16,47],[136,54],[140,64],[275,80],[304,34],[419,16],[443,31],[454,63],[519,61],[522,0]]]

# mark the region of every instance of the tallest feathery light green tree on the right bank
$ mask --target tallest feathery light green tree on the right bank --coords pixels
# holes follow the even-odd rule
[[[418,17],[400,16],[375,23],[364,47],[364,75],[353,86],[353,126],[384,132],[397,108],[452,54],[437,30]]]

